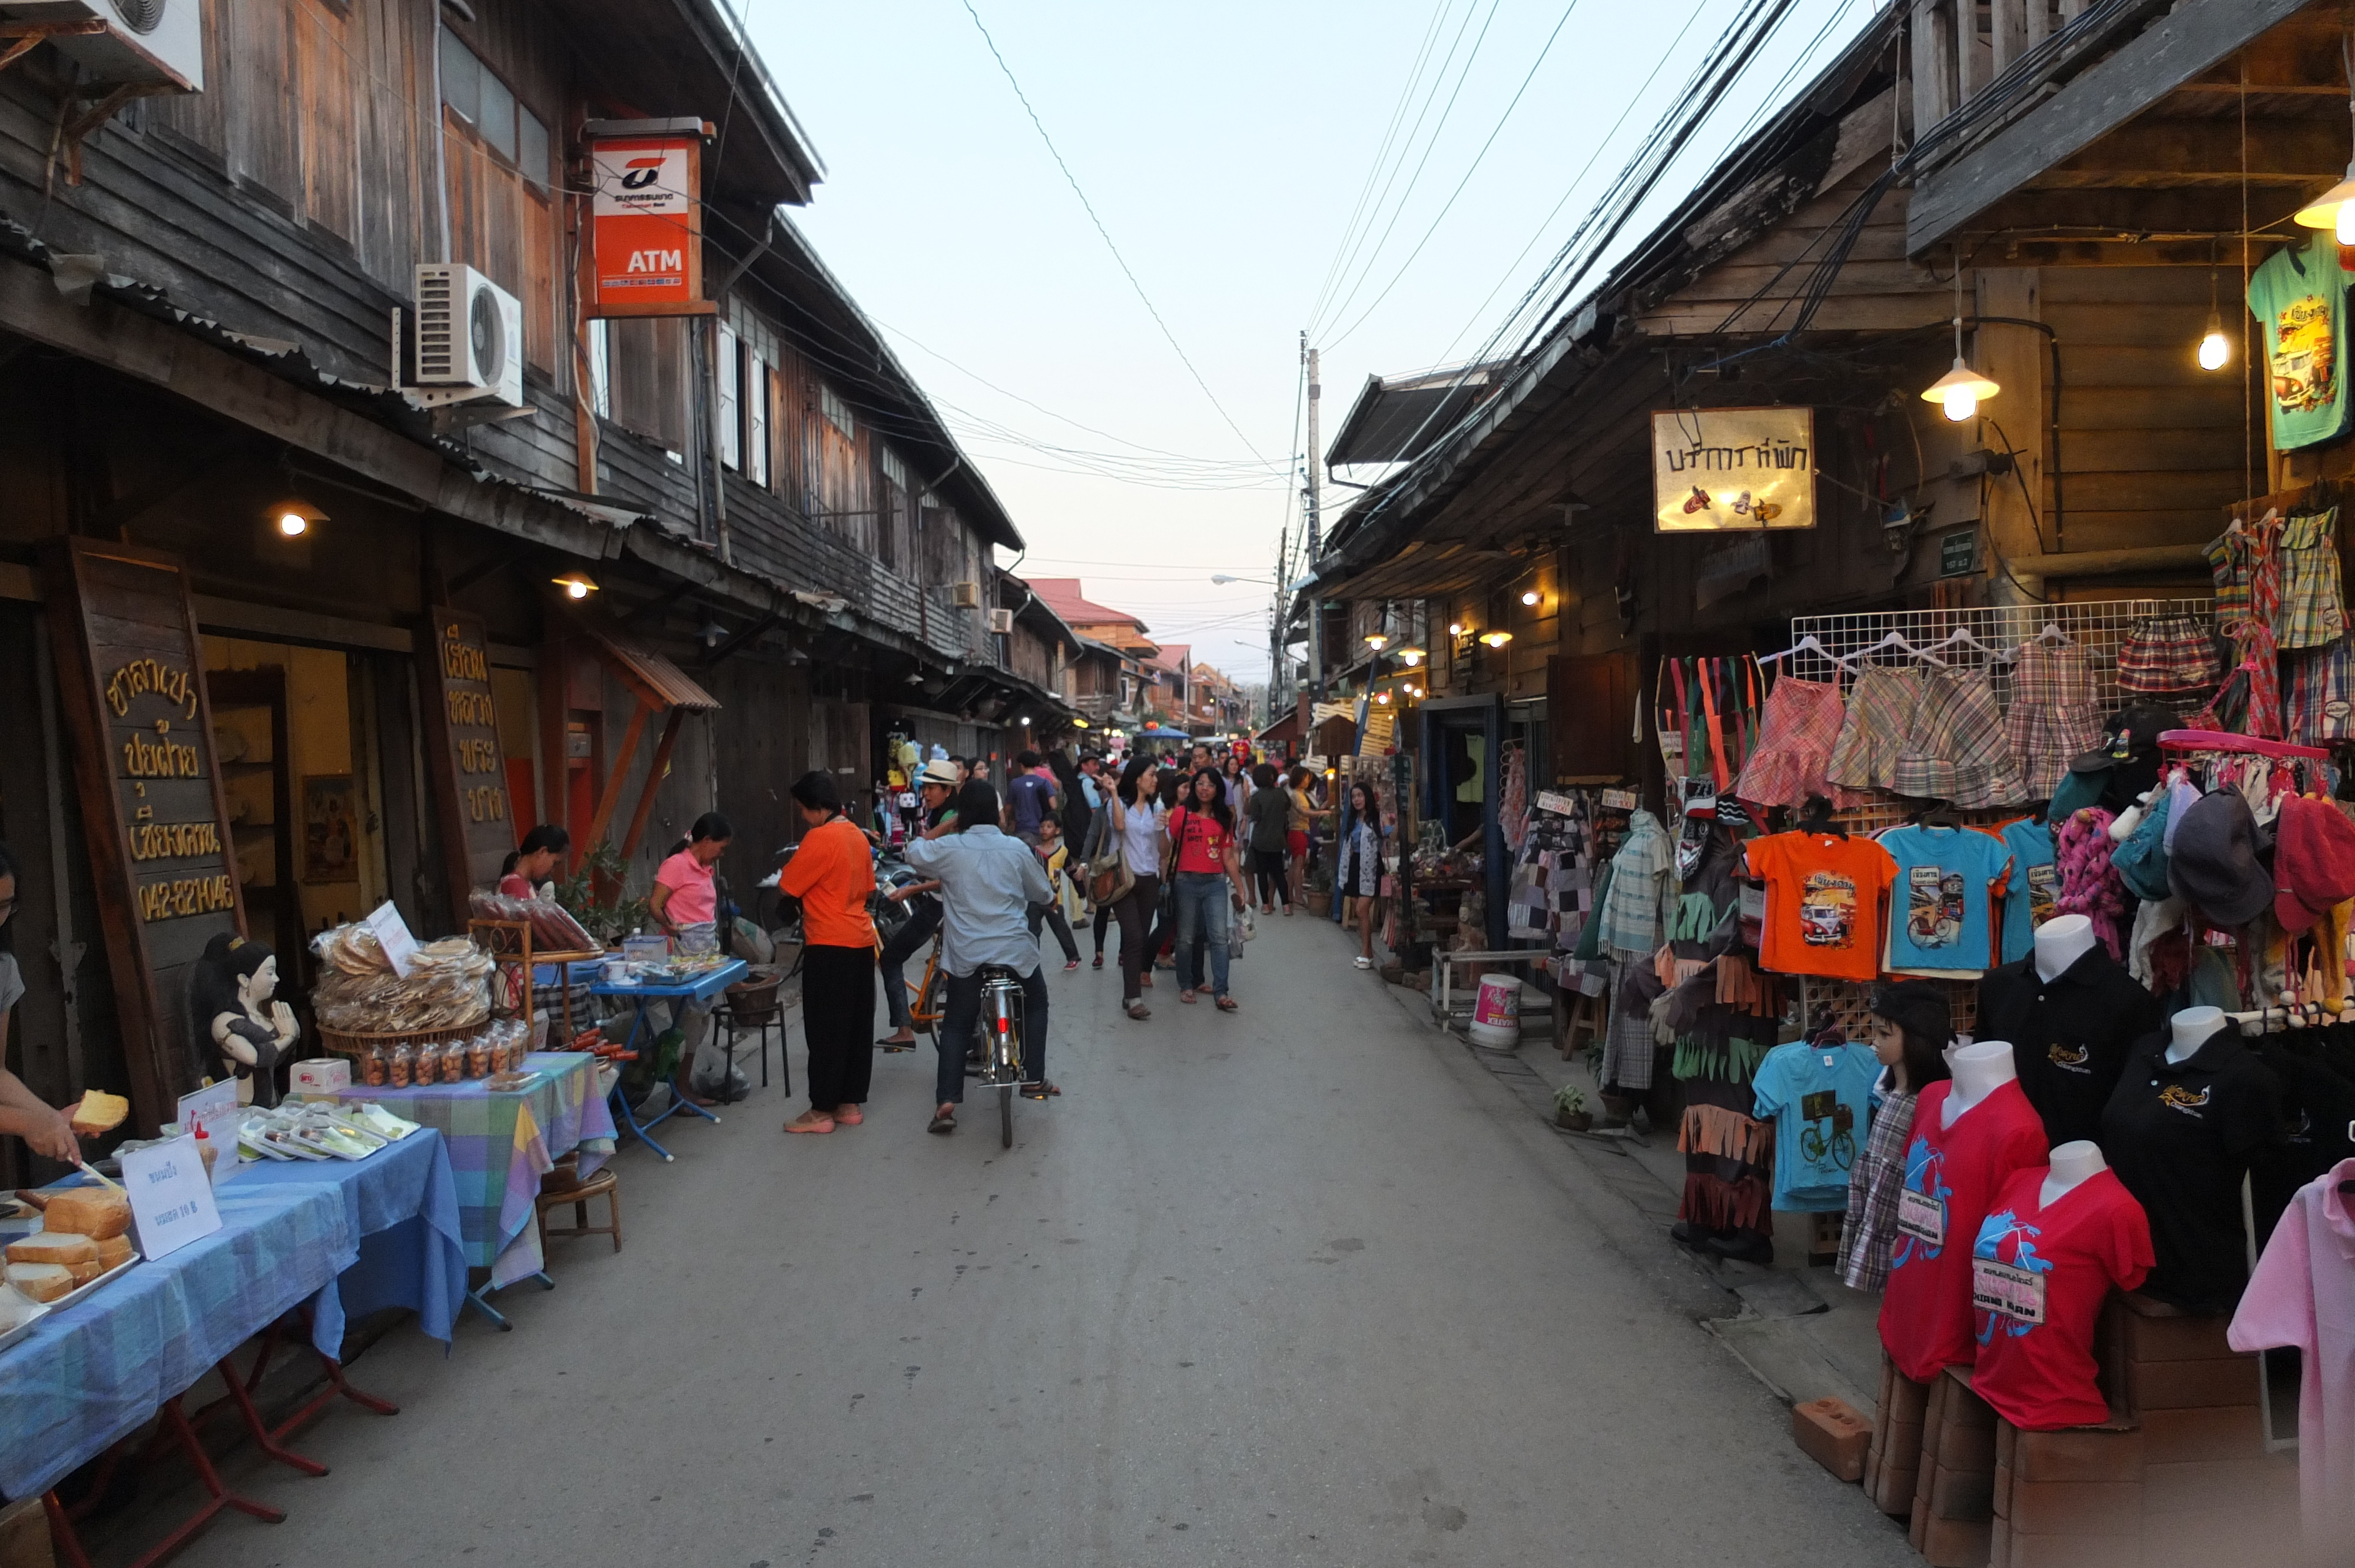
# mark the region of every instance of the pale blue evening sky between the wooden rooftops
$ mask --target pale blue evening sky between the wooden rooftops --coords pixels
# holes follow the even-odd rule
[[[1371,374],[1472,358],[1759,0],[725,2],[827,165],[796,221],[1029,544],[1001,565],[1265,683],[1302,330],[1328,445]],[[1787,5],[1630,235],[1877,9]]]

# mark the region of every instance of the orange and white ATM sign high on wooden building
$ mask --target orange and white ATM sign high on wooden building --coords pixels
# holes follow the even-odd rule
[[[702,137],[598,137],[589,315],[702,315]]]

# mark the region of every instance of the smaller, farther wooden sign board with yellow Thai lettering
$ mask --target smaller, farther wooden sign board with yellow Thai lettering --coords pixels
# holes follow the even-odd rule
[[[516,824],[506,800],[506,758],[499,753],[499,716],[490,702],[490,638],[483,617],[464,610],[431,610],[433,622],[417,640],[417,687],[426,711],[426,770],[443,829],[450,869],[450,918],[466,928],[466,895],[495,888],[499,864],[516,848]]]

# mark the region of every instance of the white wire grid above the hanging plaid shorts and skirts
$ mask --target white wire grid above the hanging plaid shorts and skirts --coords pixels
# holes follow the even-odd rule
[[[2089,598],[2061,605],[1988,605],[1981,610],[1868,610],[1863,614],[1792,617],[1790,640],[1813,636],[1830,655],[1849,659],[1898,633],[1950,669],[1983,669],[1995,685],[1995,699],[2011,706],[2011,669],[2021,643],[2035,640],[2046,626],[2084,650],[2094,678],[2094,706],[2115,713],[2134,699],[2117,690],[2117,650],[2127,636],[2152,617],[2185,617],[2202,631],[2214,624],[2214,600],[2207,598]],[[1945,643],[1955,631],[1978,643]],[[1945,647],[1933,647],[1945,643]],[[1875,662],[1912,664],[1903,647],[1884,647]],[[1830,680],[1837,671],[1818,652],[1780,659],[1780,669],[1802,680]],[[2183,702],[2197,706],[2200,697]]]

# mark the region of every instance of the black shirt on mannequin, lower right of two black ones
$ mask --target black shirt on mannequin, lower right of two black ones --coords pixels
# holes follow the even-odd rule
[[[2183,1311],[2233,1311],[2249,1278],[2240,1182],[2273,1140],[2282,1085],[2230,1024],[2188,1062],[2167,1059],[2169,1034],[2150,1034],[2101,1111],[2101,1151],[2150,1215],[2157,1267],[2143,1295]]]

